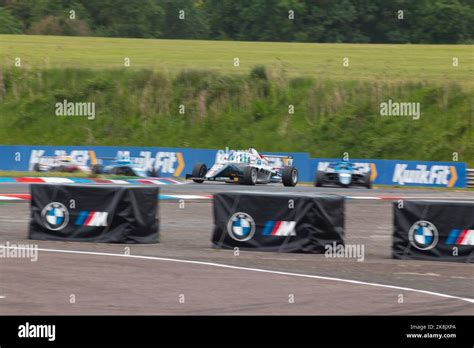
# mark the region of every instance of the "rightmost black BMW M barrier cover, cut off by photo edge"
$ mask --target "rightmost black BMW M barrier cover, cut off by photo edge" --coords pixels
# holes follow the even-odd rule
[[[474,203],[393,203],[393,257],[474,262]]]

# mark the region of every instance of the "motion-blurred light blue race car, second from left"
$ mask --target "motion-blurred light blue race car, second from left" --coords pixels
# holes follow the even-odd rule
[[[134,160],[135,159],[135,160]],[[110,164],[104,166],[96,164],[92,167],[93,174],[114,174],[124,176],[141,176],[141,177],[156,177],[156,170],[154,168],[147,168],[142,163],[139,163],[139,157],[131,158],[128,154],[117,157],[99,157],[99,161],[110,160]]]

